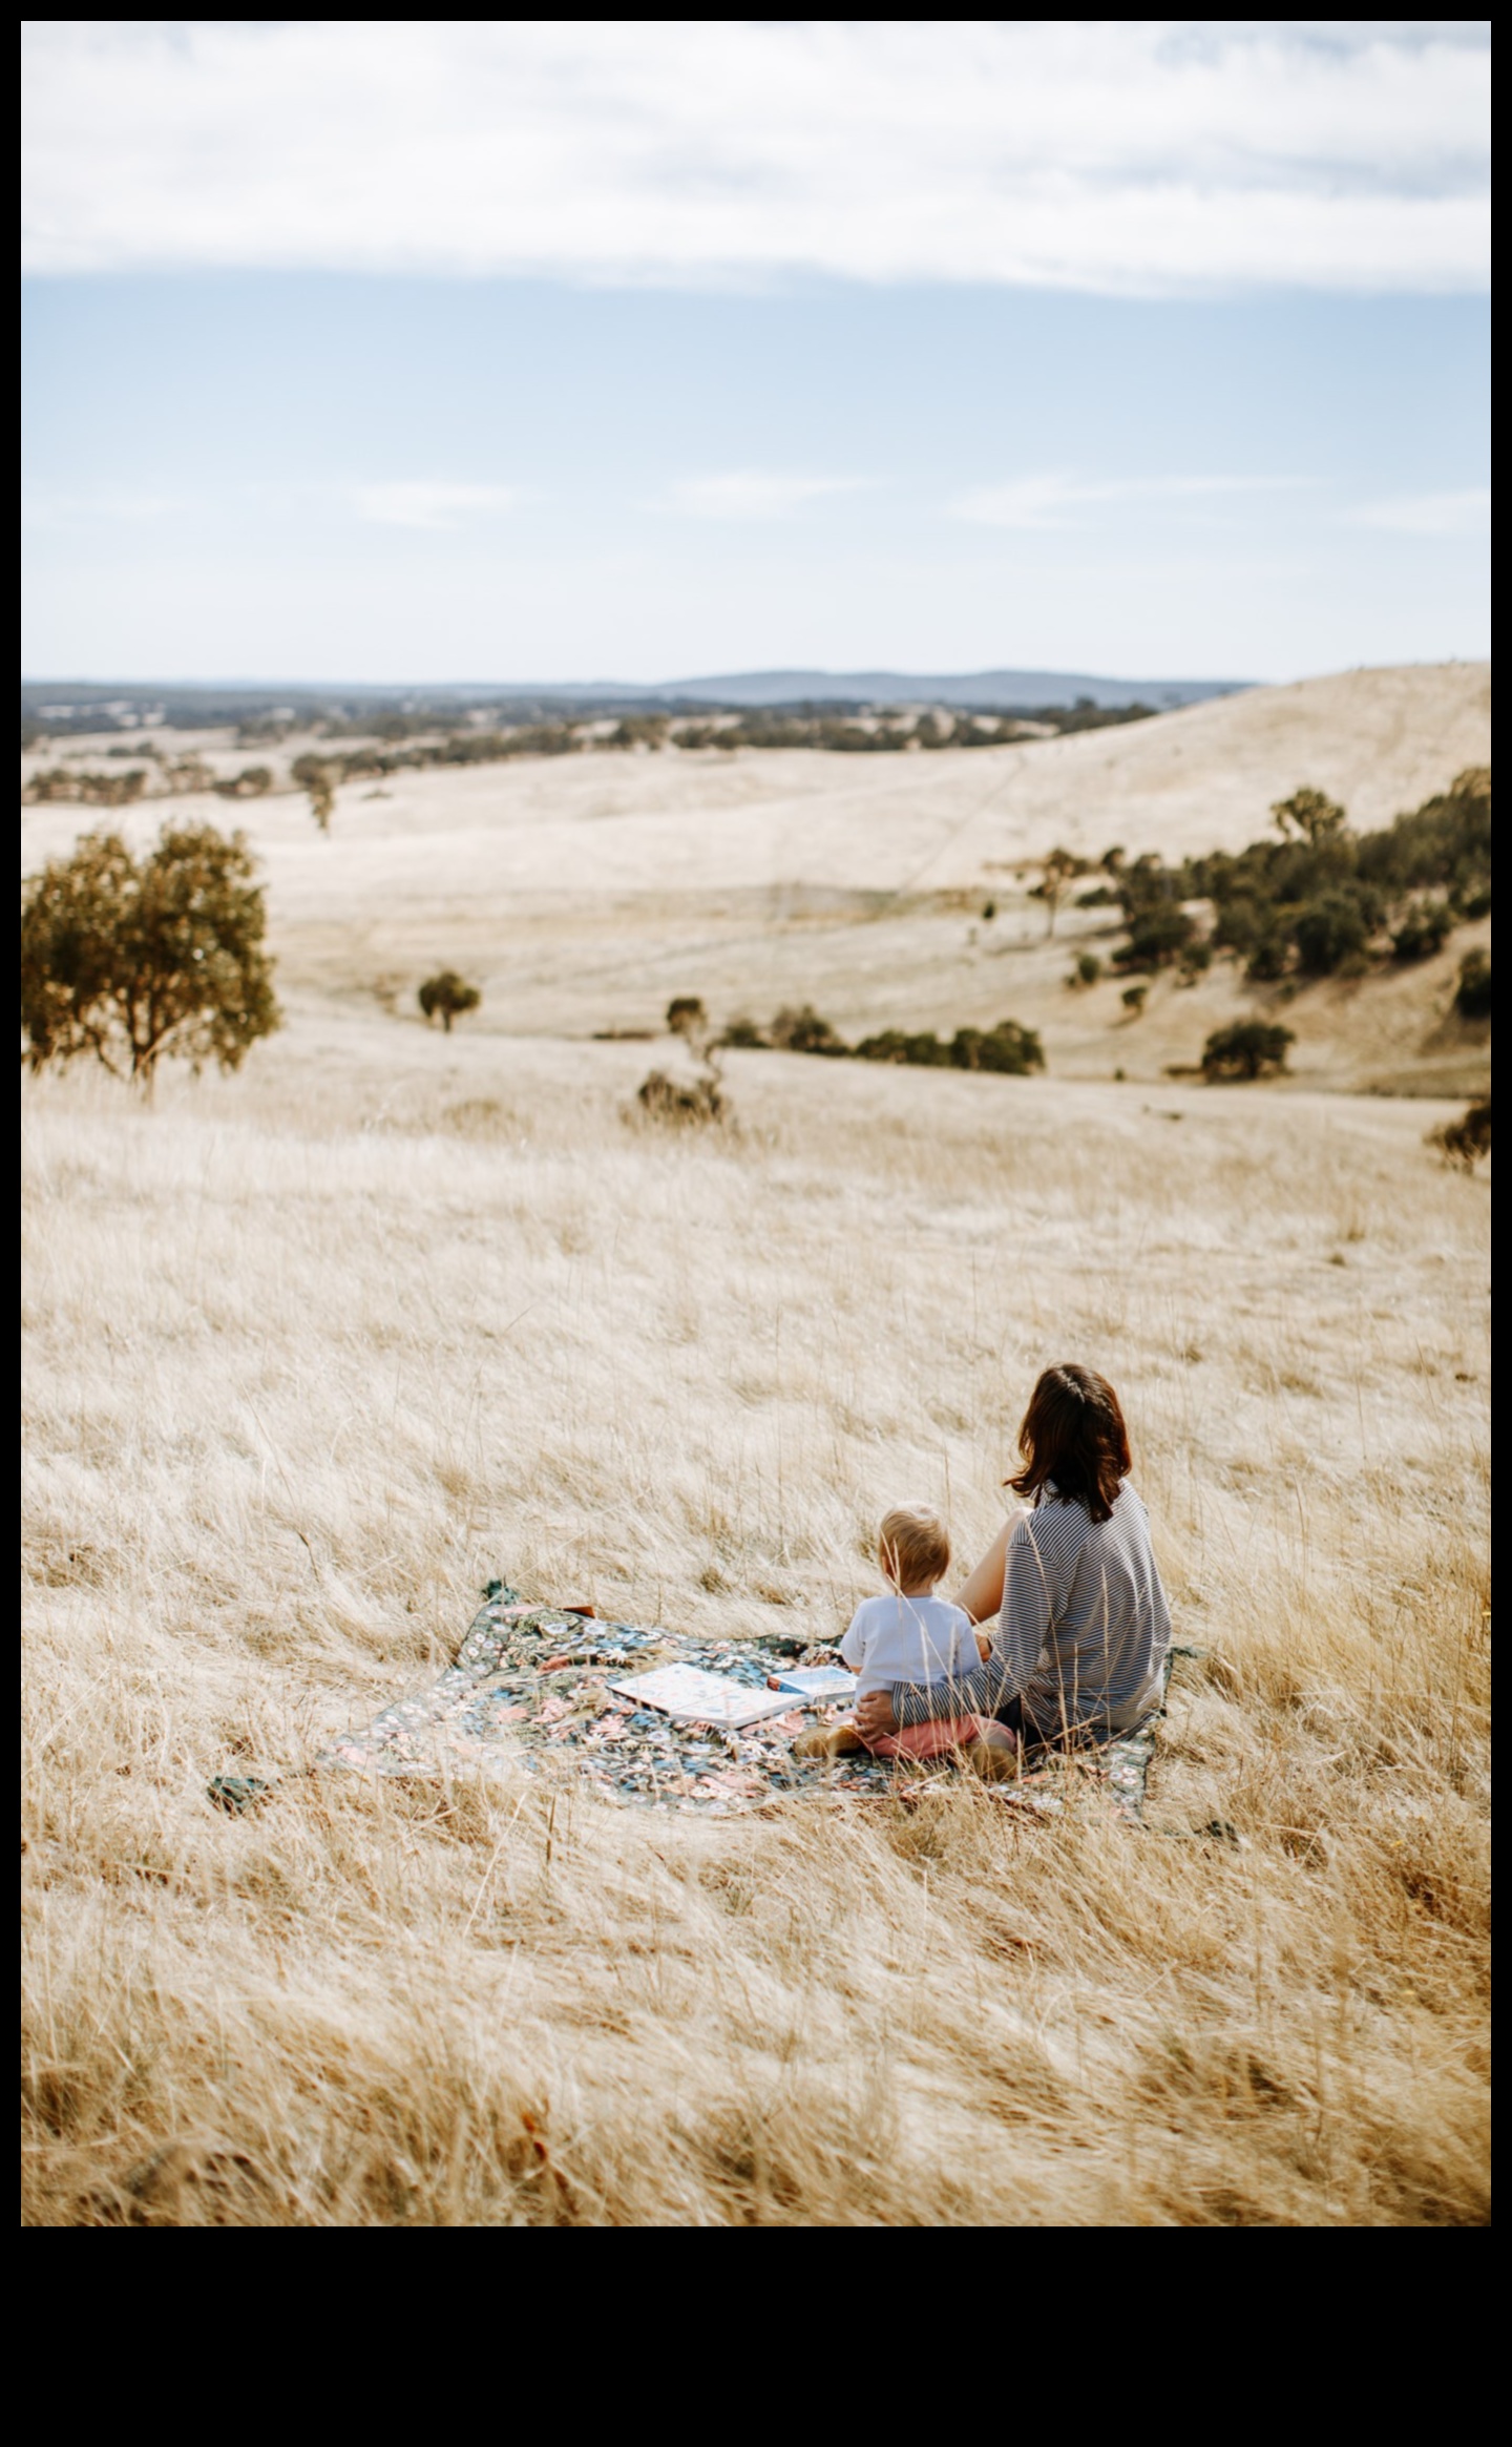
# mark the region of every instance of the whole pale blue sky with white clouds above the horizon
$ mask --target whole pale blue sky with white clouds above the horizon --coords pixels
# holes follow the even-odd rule
[[[1488,651],[1478,27],[678,32],[29,29],[22,668]]]

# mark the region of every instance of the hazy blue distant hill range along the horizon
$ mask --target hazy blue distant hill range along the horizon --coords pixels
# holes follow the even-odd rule
[[[749,707],[954,705],[991,715],[1035,715],[1042,707],[1147,705],[1169,712],[1206,697],[1231,697],[1248,680],[1103,680],[1086,670],[729,670],[702,680],[636,685],[626,680],[458,680],[450,685],[362,680],[250,683],[250,680],[22,680],[22,724],[46,732],[137,729],[166,722],[174,729],[213,729],[259,715],[296,722],[321,715],[360,717],[384,712],[438,712],[494,707],[516,722],[595,712],[732,712]]]

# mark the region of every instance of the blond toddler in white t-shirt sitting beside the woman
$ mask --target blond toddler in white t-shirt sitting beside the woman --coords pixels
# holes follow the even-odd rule
[[[839,1642],[839,1654],[859,1679],[856,1698],[891,1691],[895,1684],[954,1681],[971,1674],[981,1662],[971,1617],[935,1595],[935,1583],[949,1566],[949,1534],[939,1515],[927,1505],[898,1505],[888,1512],[878,1532],[878,1564],[891,1583],[888,1595],[866,1598]],[[949,1750],[964,1750],[974,1764],[986,1764],[1003,1745],[1013,1747],[1001,1725],[984,1725],[974,1715],[947,1715],[881,1735],[876,1742],[864,1742],[851,1723],[825,1725],[793,1747],[805,1759],[834,1759],[844,1750],[873,1750],[878,1759],[937,1759]]]

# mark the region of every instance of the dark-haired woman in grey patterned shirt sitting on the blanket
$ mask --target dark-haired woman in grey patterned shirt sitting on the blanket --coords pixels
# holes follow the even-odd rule
[[[996,1718],[1020,1742],[1106,1742],[1160,1706],[1172,1622],[1118,1395],[1094,1368],[1047,1368],[1018,1449],[1008,1485],[1032,1512],[957,1591],[974,1622],[998,1615],[991,1654],[952,1684],[873,1691],[856,1708],[866,1742],[949,1715]]]

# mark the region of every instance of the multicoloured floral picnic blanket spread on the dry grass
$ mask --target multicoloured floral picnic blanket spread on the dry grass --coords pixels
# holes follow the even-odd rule
[[[435,1777],[458,1769],[528,1767],[575,1779],[599,1801],[651,1808],[749,1811],[778,1794],[905,1794],[959,1769],[949,1759],[795,1759],[795,1735],[842,1715],[795,1701],[741,1730],[675,1723],[614,1691],[658,1664],[690,1664],[768,1688],[790,1666],[837,1664],[827,1642],[778,1632],[761,1639],[692,1639],[661,1625],[612,1622],[536,1605],[489,1581],[458,1659],[426,1691],[384,1708],[360,1732],[343,1732],[316,1767],[367,1777]],[[1008,1784],[981,1786],[993,1801],[1054,1813],[1089,1789],[1138,1818],[1155,1728],[1072,1759],[1030,1754]]]

